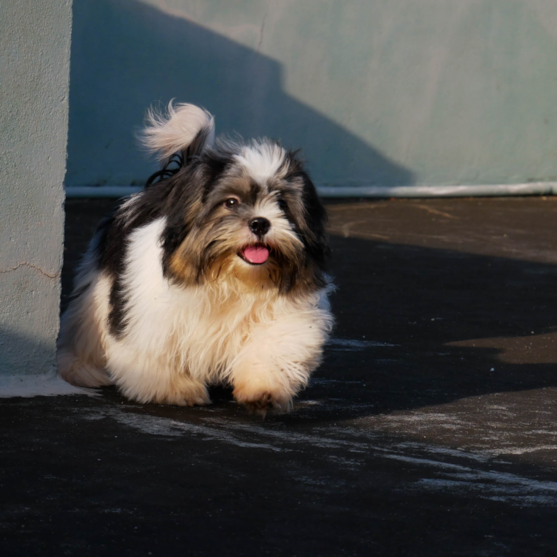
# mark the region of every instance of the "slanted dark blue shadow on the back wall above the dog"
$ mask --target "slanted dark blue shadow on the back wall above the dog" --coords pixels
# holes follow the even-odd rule
[[[73,12],[69,186],[143,184],[154,167],[134,131],[149,105],[172,98],[215,114],[218,133],[301,147],[320,185],[414,182],[412,172],[286,94],[275,60],[136,0],[80,0]]]

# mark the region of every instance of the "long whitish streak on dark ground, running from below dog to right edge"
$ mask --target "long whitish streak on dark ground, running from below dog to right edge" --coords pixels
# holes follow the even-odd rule
[[[283,425],[238,423],[230,418],[212,416],[202,418],[202,423],[192,424],[139,414],[131,408],[109,410],[105,415],[149,435],[169,438],[194,436],[203,441],[277,453],[311,451],[313,462],[321,462],[323,467],[337,466],[339,470],[345,471],[356,470],[369,459],[411,464],[419,477],[405,483],[400,489],[450,490],[462,496],[474,495],[512,505],[557,505],[557,482],[496,470],[495,467],[505,467],[509,463],[495,462],[493,455],[486,452],[477,454],[428,443],[400,442],[381,433],[347,426],[314,427],[300,432]],[[440,416],[433,418],[439,421]],[[549,448],[555,449],[556,446]],[[316,466],[319,468],[320,465]],[[308,483],[304,480],[310,477],[307,469],[292,474],[293,479]],[[322,481],[313,478],[310,484],[317,486]]]

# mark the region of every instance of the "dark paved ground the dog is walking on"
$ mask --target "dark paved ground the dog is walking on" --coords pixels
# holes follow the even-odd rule
[[[110,201],[67,204],[64,289]],[[0,401],[1,555],[557,554],[557,199],[330,203],[294,412]]]

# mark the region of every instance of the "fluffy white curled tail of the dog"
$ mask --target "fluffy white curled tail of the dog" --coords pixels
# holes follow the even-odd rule
[[[173,154],[183,160],[200,155],[215,142],[215,120],[209,112],[193,104],[168,104],[166,113],[150,108],[139,139],[145,148],[157,155],[163,165]]]

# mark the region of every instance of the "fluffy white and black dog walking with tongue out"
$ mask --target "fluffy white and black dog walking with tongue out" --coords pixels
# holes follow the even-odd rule
[[[325,210],[296,153],[214,141],[182,104],[148,114],[163,162],[100,225],[62,317],[58,369],[139,402],[288,410],[332,327]]]

